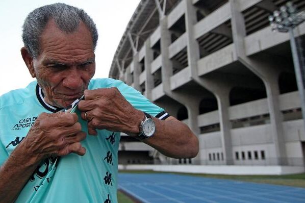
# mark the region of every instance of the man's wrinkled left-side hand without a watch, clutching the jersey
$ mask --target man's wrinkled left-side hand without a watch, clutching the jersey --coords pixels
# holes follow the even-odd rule
[[[80,141],[85,139],[86,133],[81,130],[75,113],[42,113],[21,143],[38,159],[70,153],[83,156],[86,149]]]

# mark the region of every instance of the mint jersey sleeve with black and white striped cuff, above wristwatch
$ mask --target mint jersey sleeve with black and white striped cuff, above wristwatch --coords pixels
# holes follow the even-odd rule
[[[135,108],[151,116],[157,117],[159,119],[165,120],[169,117],[169,114],[164,111],[164,109],[158,107],[157,105],[150,102],[145,96],[143,96],[139,91],[135,90],[133,87],[126,85],[123,82],[117,86],[118,90],[125,97],[126,100]]]

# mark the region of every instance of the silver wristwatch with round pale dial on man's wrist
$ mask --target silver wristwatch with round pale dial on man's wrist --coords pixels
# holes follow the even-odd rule
[[[156,124],[153,118],[144,112],[144,118],[139,124],[140,133],[137,136],[138,139],[142,140],[145,138],[152,137],[156,132]]]

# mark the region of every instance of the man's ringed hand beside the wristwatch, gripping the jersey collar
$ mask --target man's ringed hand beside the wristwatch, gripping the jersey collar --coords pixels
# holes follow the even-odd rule
[[[88,121],[90,135],[97,135],[96,129],[129,135],[139,133],[138,125],[144,113],[136,110],[117,88],[85,90],[84,94],[85,100],[81,100],[78,108],[82,118]]]

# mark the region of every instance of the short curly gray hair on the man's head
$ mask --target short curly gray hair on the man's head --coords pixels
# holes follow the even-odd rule
[[[82,20],[91,32],[93,49],[97,43],[97,29],[91,17],[83,10],[62,3],[46,5],[32,11],[23,23],[22,40],[33,58],[40,54],[39,40],[49,19],[63,32],[72,33]]]

